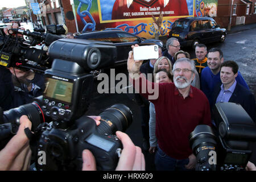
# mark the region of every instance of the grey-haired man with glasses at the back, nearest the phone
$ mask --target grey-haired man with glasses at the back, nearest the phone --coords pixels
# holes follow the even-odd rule
[[[171,60],[172,65],[174,65],[175,59],[174,55],[180,50],[179,40],[176,38],[170,38],[166,42],[166,50],[163,51],[162,56],[168,57]]]

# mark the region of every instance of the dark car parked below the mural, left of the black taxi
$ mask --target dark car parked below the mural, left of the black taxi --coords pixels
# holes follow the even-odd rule
[[[129,51],[131,51],[131,46],[134,44],[138,44],[139,46],[156,44],[163,47],[163,42],[160,40],[141,38],[122,30],[90,31],[75,36],[75,39],[97,40],[115,46],[117,56],[114,60],[114,65],[127,63]]]

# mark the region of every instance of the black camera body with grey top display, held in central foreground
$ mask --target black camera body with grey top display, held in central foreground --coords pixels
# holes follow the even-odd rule
[[[82,151],[88,149],[96,158],[98,170],[113,170],[122,143],[115,135],[102,133],[101,128],[86,116],[77,119],[68,130],[59,129],[58,122],[47,124],[36,144],[38,152],[46,152],[46,158],[38,155],[36,169],[81,170]]]

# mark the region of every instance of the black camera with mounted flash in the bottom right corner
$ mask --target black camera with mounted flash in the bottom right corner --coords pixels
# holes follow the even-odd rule
[[[256,141],[253,119],[240,104],[220,102],[214,106],[213,119],[217,130],[199,125],[189,135],[196,156],[197,171],[242,171]]]

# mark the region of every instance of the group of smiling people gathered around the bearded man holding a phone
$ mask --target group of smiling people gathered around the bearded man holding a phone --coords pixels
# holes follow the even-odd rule
[[[134,60],[133,52],[129,53],[127,69],[130,82],[149,103],[149,107],[144,108],[148,110],[143,110],[142,149],[155,154],[156,170],[195,168],[196,157],[189,147],[188,136],[197,125],[216,127],[211,112],[217,102],[240,104],[255,122],[255,99],[238,71],[237,63],[224,62],[221,49],[212,48],[207,52],[204,44],[197,44],[195,54],[196,59],[191,60],[189,53],[180,50],[176,38],[167,40],[166,50],[158,60],[142,64],[143,60]],[[142,69],[146,65],[147,72]],[[154,81],[141,73],[154,74]],[[160,73],[165,79],[156,79]],[[147,88],[159,87],[156,100],[150,100],[149,92],[142,92],[144,82],[151,85]],[[146,113],[150,113],[148,120],[144,120],[148,118]],[[149,136],[145,136],[147,122]],[[149,143],[148,147],[145,141]]]

